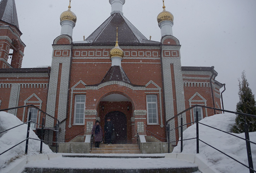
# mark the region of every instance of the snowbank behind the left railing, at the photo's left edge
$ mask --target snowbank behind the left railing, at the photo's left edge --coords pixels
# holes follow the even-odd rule
[[[11,127],[15,127],[22,124],[16,116],[7,113],[0,112],[0,132],[5,131]],[[19,127],[11,129],[4,134],[0,134],[0,153],[3,153],[12,146],[18,144],[19,142],[26,139],[27,124],[23,124]],[[39,139],[35,132],[30,129],[29,137]],[[0,156],[0,169],[5,168],[12,160],[21,157],[25,154],[26,141],[22,142],[15,148],[10,149],[8,152]],[[52,150],[43,143],[42,146],[43,153],[52,153]],[[38,154],[40,153],[40,141],[29,139],[28,144],[28,154]]]

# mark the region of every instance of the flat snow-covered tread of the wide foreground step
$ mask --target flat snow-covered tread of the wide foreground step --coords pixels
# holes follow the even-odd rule
[[[113,155],[112,155],[113,156]],[[120,155],[118,155],[120,156]],[[141,155],[142,156],[142,155]],[[156,155],[154,155],[156,156]],[[196,167],[172,158],[51,158],[32,161],[26,167],[40,168],[179,168]]]

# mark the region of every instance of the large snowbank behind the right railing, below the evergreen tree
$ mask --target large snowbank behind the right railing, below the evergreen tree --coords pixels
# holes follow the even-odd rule
[[[206,117],[200,122],[225,132],[230,132],[231,127],[235,124],[235,114],[217,114],[211,117]],[[233,134],[245,138],[245,133]],[[196,124],[188,127],[188,129],[183,132],[183,139],[193,137],[196,137]],[[201,124],[199,124],[199,139],[248,166],[245,140]],[[250,132],[250,140],[256,142],[256,132]],[[214,148],[199,141],[199,155],[205,158],[208,164],[212,165],[211,167],[215,168],[220,173],[249,173],[248,168],[235,162],[233,159],[228,158]],[[251,144],[251,152],[253,162],[256,163],[255,144]],[[173,149],[173,153],[180,153],[180,142],[178,142],[178,146]],[[183,141],[182,153],[196,153],[196,140]]]

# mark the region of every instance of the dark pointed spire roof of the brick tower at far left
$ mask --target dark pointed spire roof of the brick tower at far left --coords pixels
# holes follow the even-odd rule
[[[15,25],[19,28],[17,10],[14,0],[1,0],[0,2],[0,20]]]

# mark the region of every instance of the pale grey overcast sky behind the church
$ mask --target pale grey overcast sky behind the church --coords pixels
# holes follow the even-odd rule
[[[69,0],[16,0],[26,44],[23,68],[51,65],[52,43],[61,32],[59,17],[68,4]],[[174,15],[172,31],[182,45],[182,66],[214,66],[216,80],[226,84],[225,109],[235,111],[238,78],[244,70],[256,94],[256,0],[165,0],[165,5]],[[73,41],[87,38],[111,12],[109,0],[72,0],[71,6],[78,19]],[[125,17],[153,41],[161,39],[161,11],[162,0],[126,0],[123,6]]]

